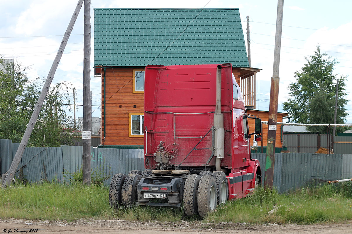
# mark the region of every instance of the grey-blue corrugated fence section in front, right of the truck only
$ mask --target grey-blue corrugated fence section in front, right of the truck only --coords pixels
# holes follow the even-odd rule
[[[265,154],[252,154],[259,160],[264,178]],[[352,178],[352,154],[275,154],[274,186],[280,193],[314,180],[338,180]],[[264,185],[264,180],[262,180]]]

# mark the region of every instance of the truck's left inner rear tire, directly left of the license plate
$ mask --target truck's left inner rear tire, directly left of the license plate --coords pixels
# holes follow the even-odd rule
[[[124,186],[122,186],[122,206],[132,207],[136,205],[137,200],[137,187],[140,181],[140,175],[128,174],[126,176]]]

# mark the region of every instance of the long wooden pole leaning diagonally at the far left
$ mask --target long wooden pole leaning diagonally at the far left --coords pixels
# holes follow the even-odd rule
[[[65,46],[67,44],[68,38],[69,38],[69,36],[70,36],[70,34],[72,32],[73,26],[74,26],[74,24],[76,22],[76,19],[77,19],[77,16],[78,16],[78,13],[80,12],[80,9],[82,7],[82,3],[83,3],[83,0],[79,0],[78,1],[78,4],[77,4],[76,9],[75,9],[75,12],[72,15],[70,23],[69,23],[69,25],[68,25],[68,27],[66,29],[65,35],[63,36],[63,39],[61,41],[61,45],[60,45],[59,50],[58,50],[58,52],[56,54],[54,62],[51,65],[48,77],[46,78],[43,90],[40,93],[37,105],[34,107],[34,111],[32,113],[31,119],[29,120],[29,123],[27,125],[26,131],[24,132],[24,135],[23,135],[23,138],[21,140],[21,143],[20,143],[20,145],[19,145],[19,147],[17,149],[17,152],[16,152],[16,154],[15,154],[15,156],[13,158],[13,161],[11,163],[11,166],[8,169],[6,177],[5,177],[5,179],[4,179],[3,183],[2,183],[2,188],[6,188],[7,186],[10,185],[10,183],[11,183],[11,181],[13,179],[13,176],[15,174],[15,171],[16,171],[16,169],[18,167],[18,164],[21,161],[24,149],[27,146],[28,140],[29,140],[29,138],[31,136],[31,133],[32,133],[33,128],[34,128],[34,125],[35,125],[35,123],[37,121],[40,109],[42,108],[45,96],[48,93],[51,81],[52,81],[52,79],[54,79],[56,68],[59,65],[61,56],[62,56],[62,54],[64,52],[64,49],[65,49]]]

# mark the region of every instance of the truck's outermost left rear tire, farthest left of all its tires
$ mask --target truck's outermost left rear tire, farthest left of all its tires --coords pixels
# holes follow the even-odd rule
[[[109,203],[110,206],[114,209],[121,206],[121,190],[125,178],[125,174],[115,174],[111,179],[109,188]]]

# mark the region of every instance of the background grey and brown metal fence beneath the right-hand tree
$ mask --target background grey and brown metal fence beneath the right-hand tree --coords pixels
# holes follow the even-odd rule
[[[352,136],[328,137],[326,134],[283,134],[283,146],[294,153],[315,153],[320,147],[333,149],[335,154],[352,153]]]

